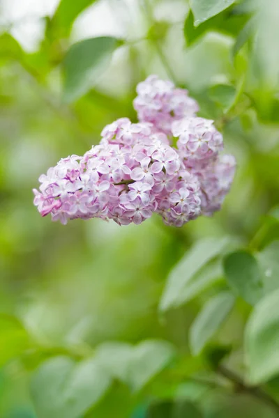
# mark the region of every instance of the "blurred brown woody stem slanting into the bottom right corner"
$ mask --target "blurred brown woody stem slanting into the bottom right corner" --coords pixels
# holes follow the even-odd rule
[[[250,394],[252,396],[255,396],[255,398],[261,399],[264,403],[267,405],[270,405],[276,412],[279,414],[279,403],[275,399],[272,398],[269,394],[264,392],[259,387],[252,387],[246,385],[244,380],[238,376],[234,371],[231,371],[227,369],[225,366],[218,366],[217,372],[230,380],[234,383],[237,389],[241,392],[246,392],[247,394]]]

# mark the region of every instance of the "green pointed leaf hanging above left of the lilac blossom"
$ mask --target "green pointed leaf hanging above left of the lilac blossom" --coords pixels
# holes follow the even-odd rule
[[[120,40],[110,36],[85,39],[72,45],[63,61],[64,100],[73,101],[89,91],[120,45]]]

